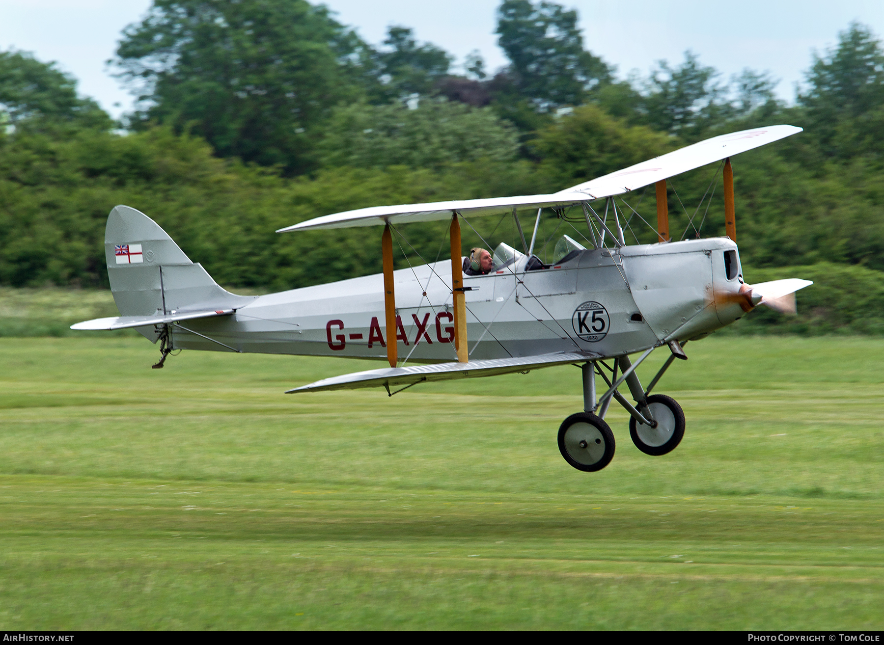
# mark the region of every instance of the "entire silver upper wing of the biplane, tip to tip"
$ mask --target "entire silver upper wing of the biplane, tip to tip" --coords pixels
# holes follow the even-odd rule
[[[722,134],[554,194],[372,206],[368,209],[347,210],[343,213],[314,217],[300,224],[286,226],[277,232],[339,229],[349,226],[381,226],[387,222],[391,224],[431,222],[448,219],[452,216],[453,211],[457,211],[463,216],[482,216],[499,214],[509,209],[547,209],[570,206],[581,201],[629,193],[630,190],[647,186],[660,179],[699,168],[706,163],[717,162],[726,156],[738,155],[746,150],[758,148],[758,146],[801,131],[800,127],[794,125],[771,125],[754,130],[743,130],[738,133]]]

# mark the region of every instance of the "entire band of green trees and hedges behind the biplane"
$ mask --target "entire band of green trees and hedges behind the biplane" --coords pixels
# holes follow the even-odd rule
[[[766,72],[723,80],[690,51],[618,79],[560,4],[504,0],[497,18],[508,64],[490,72],[408,27],[372,45],[304,0],[155,0],[111,61],[138,97],[121,122],[57,65],[0,52],[0,284],[106,285],[117,203],[225,285],[364,275],[380,269],[371,232],[273,231],[377,204],[552,192],[775,123],[805,132],[734,160],[743,264],[884,270],[884,49],[868,27],[812,55],[789,105]],[[674,239],[723,234],[716,171],[673,178]],[[654,241],[641,221],[653,194],[624,200],[628,241]],[[517,239],[506,219],[473,224],[465,244]],[[541,239],[568,226],[547,217]],[[400,232],[397,266],[439,256],[444,225]]]

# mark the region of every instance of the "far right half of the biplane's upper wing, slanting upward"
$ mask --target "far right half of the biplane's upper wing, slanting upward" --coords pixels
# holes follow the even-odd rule
[[[653,184],[660,179],[692,171],[700,166],[705,166],[706,163],[714,163],[728,156],[739,155],[746,150],[773,143],[773,141],[789,135],[800,133],[802,130],[803,128],[795,125],[770,125],[754,130],[722,134],[685,148],[679,148],[666,155],[654,157],[649,161],[636,163],[634,166],[612,172],[610,175],[584,181],[583,184],[566,188],[561,191],[561,194],[580,192],[598,199],[629,193],[630,190]]]

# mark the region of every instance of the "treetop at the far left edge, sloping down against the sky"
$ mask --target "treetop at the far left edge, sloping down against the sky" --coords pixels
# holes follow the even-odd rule
[[[0,51],[0,127],[110,127],[110,118],[90,98],[77,95],[77,81],[22,51]]]

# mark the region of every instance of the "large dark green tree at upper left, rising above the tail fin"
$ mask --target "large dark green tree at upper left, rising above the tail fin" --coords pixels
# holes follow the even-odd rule
[[[155,0],[117,54],[148,102],[142,126],[172,125],[219,156],[298,172],[312,166],[327,110],[361,94],[368,52],[305,0]]]

